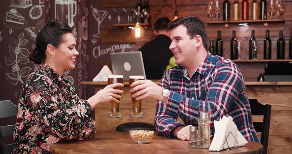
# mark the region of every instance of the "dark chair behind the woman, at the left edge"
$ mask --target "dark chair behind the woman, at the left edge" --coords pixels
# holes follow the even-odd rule
[[[11,101],[0,101],[0,119],[15,117],[17,115],[17,106]],[[15,121],[14,121],[15,123]],[[0,140],[4,141],[4,144],[0,145],[0,154],[11,154],[12,149],[15,147],[15,143],[12,140],[15,124],[0,126]]]

